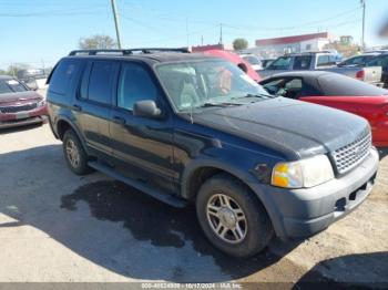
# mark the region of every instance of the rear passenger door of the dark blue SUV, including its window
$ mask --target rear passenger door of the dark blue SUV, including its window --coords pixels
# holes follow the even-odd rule
[[[86,146],[98,155],[112,155],[109,123],[118,69],[115,61],[90,61],[73,104]]]

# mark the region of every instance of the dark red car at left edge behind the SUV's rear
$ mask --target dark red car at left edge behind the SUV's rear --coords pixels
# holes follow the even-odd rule
[[[0,75],[0,128],[47,121],[44,99],[21,82]]]

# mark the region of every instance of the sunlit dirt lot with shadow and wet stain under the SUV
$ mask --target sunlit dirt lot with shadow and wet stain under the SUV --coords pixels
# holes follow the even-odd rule
[[[192,208],[70,173],[48,125],[0,134],[0,281],[388,282],[388,156],[356,211],[249,260],[215,250]]]

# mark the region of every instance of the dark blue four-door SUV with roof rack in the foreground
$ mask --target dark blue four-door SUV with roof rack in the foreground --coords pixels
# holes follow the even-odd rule
[[[221,250],[328,227],[371,190],[368,123],[268,95],[233,63],[169,50],[74,51],[49,79],[49,120],[72,172],[170,205],[195,204]]]

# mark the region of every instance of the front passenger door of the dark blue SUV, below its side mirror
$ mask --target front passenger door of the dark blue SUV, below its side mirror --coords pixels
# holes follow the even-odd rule
[[[135,116],[134,104],[145,100],[154,101],[163,117]],[[126,177],[174,191],[172,118],[164,102],[159,82],[145,64],[122,63],[111,122],[115,167]]]

